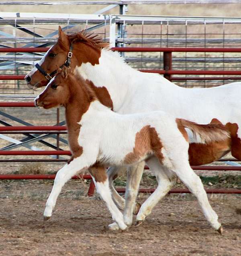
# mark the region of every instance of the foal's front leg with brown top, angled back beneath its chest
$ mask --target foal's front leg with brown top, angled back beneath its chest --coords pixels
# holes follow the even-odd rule
[[[98,194],[100,194],[102,200],[106,202],[108,209],[112,215],[112,219],[118,224],[118,228],[122,230],[127,229],[127,225],[125,225],[124,223],[123,214],[114,204],[114,201],[111,197],[106,169],[104,167],[95,166],[90,167],[89,171],[96,186],[96,191],[98,192]]]

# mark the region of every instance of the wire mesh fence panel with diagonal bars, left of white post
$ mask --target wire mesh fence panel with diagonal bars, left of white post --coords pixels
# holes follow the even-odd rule
[[[87,29],[108,40],[109,19],[103,15],[0,13],[0,47],[48,47],[57,41],[58,26],[72,34]],[[29,17],[30,15],[35,17]],[[37,17],[36,17],[37,16]],[[47,17],[47,18],[46,18]],[[57,18],[58,17],[58,18]],[[63,18],[59,18],[63,17]],[[0,75],[26,75],[44,52],[0,53]],[[22,78],[21,78],[22,79]],[[0,80],[0,94],[33,94],[23,80]]]

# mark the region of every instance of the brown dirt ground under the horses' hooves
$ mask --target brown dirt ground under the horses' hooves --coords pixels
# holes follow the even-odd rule
[[[113,232],[106,229],[112,223],[106,205],[96,195],[88,198],[88,184],[79,180],[65,185],[53,216],[44,222],[52,184],[0,182],[0,255],[241,255],[241,196],[209,196],[223,235],[208,225],[198,202],[188,194],[167,196],[143,225]],[[138,201],[147,196],[140,194]]]

